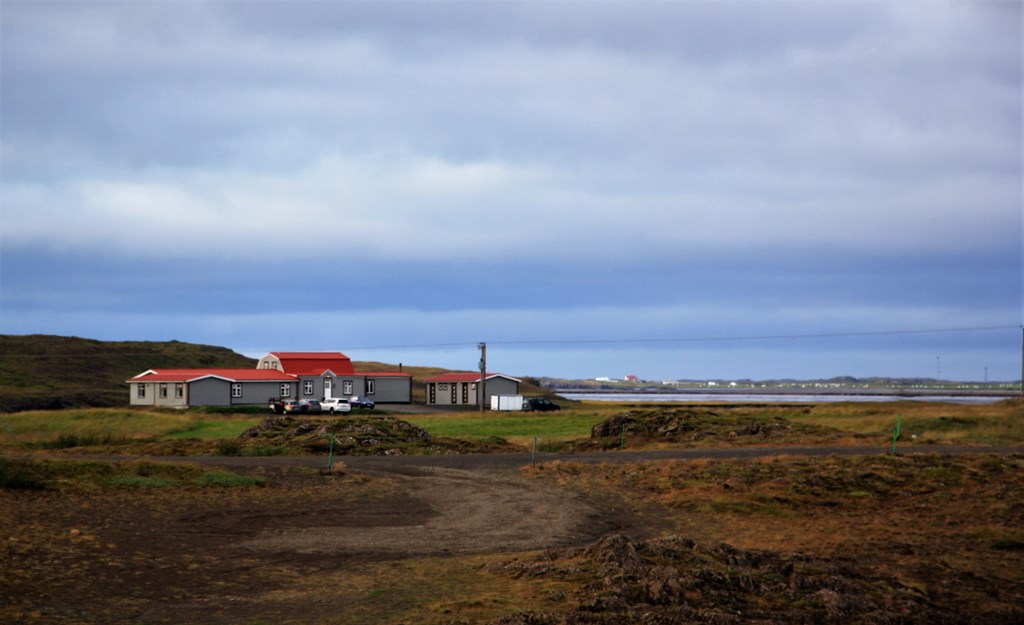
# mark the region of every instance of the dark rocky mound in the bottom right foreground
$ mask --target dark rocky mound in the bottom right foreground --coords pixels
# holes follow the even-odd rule
[[[608,536],[587,547],[551,549],[497,568],[516,578],[592,581],[577,596],[556,597],[574,608],[517,613],[493,625],[1002,622],[991,620],[993,615],[979,621],[944,613],[920,590],[850,564],[727,544],[703,546],[679,537],[633,541]]]

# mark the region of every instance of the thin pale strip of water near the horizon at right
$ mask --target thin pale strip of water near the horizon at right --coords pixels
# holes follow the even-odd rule
[[[899,393],[769,393],[769,392],[575,392],[558,393],[566,400],[583,402],[719,402],[728,404],[822,404],[836,402],[943,402],[948,404],[994,404],[1007,395],[899,394]]]

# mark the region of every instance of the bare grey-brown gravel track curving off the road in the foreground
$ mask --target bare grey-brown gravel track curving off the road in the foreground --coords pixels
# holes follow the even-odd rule
[[[582,543],[622,525],[573,493],[512,475],[424,467],[388,480],[393,503],[403,496],[376,518],[336,510],[322,526],[267,528],[236,546],[346,558],[520,551]]]

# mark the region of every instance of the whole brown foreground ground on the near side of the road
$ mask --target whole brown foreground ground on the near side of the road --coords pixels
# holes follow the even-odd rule
[[[1024,622],[1015,457],[274,460],[203,459],[246,488],[0,489],[0,622]]]

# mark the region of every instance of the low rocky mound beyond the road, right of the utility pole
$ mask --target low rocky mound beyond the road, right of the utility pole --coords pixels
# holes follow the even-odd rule
[[[849,435],[840,430],[798,423],[781,417],[736,414],[728,409],[656,408],[630,410],[591,429],[591,447],[617,445],[625,430],[630,441],[672,443],[782,443],[831,441]]]

